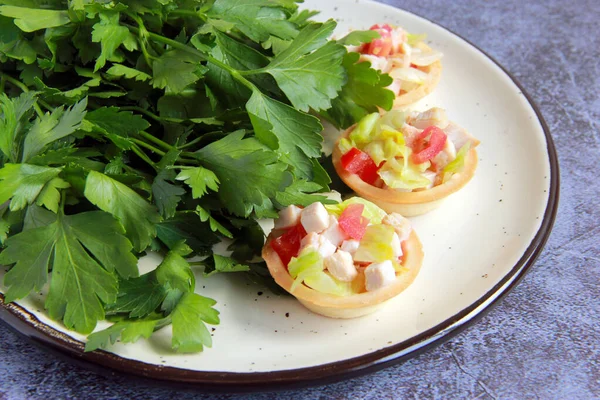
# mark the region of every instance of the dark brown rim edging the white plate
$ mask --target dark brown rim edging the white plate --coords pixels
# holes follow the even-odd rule
[[[381,5],[394,8],[386,4]],[[41,345],[57,355],[66,356],[77,364],[84,365],[96,372],[102,374],[119,373],[132,378],[142,378],[144,383],[150,385],[166,384],[169,386],[207,392],[272,391],[317,386],[350,379],[378,371],[400,363],[410,357],[414,357],[433,346],[443,343],[464,330],[466,327],[472,325],[519,283],[541,254],[552,231],[558,209],[560,186],[558,158],[554,147],[554,141],[550,134],[550,129],[538,106],[525,91],[523,86],[506,70],[506,68],[500,65],[500,63],[488,53],[452,30],[412,12],[409,13],[445,29],[494,62],[525,96],[528,103],[535,111],[546,137],[546,147],[550,162],[550,191],[546,211],[544,212],[540,228],[523,256],[511,271],[479,300],[461,312],[411,339],[369,354],[314,367],[255,373],[192,371],[130,360],[106,351],[85,353],[83,351],[84,344],[82,342],[45,325],[40,322],[34,314],[18,304],[4,303],[4,296],[1,293],[0,320],[7,323],[15,331],[26,336],[33,343]]]

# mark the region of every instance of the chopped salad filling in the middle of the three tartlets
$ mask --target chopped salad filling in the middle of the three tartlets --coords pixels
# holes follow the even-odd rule
[[[478,144],[441,108],[373,113],[338,142],[344,170],[369,185],[401,192],[431,189],[453,179]]]

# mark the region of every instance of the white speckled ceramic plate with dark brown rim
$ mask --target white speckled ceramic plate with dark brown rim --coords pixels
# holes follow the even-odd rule
[[[412,219],[426,253],[414,284],[382,311],[340,321],[242,277],[198,275],[197,291],[218,301],[222,321],[213,348],[198,355],[172,354],[167,329],[149,341],[83,354],[84,338],[50,320],[36,296],[3,305],[0,317],[95,365],[202,388],[250,390],[382,368],[447,338],[514,285],[550,232],[558,193],[551,138],[522,89],[480,50],[413,14],[355,0],[307,0],[304,6],[321,10],[322,19],[335,18],[340,35],[382,22],[426,33],[431,47],[444,53],[443,75],[437,90],[415,108],[446,108],[481,140],[475,178],[439,209]],[[148,257],[142,267],[158,261]]]

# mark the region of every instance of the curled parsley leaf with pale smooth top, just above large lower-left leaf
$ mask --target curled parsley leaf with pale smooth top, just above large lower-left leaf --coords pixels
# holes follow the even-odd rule
[[[90,171],[85,197],[103,211],[114,215],[125,227],[136,251],[143,251],[156,236],[160,215],[139,194],[126,185],[96,171]]]

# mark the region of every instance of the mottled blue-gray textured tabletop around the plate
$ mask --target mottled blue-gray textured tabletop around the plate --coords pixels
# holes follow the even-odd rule
[[[536,266],[464,333],[402,365],[281,396],[600,398],[600,2],[385,2],[467,38],[511,71],[532,95],[559,153],[558,218]],[[81,370],[30,346],[3,325],[0,354],[0,400],[203,398]]]

